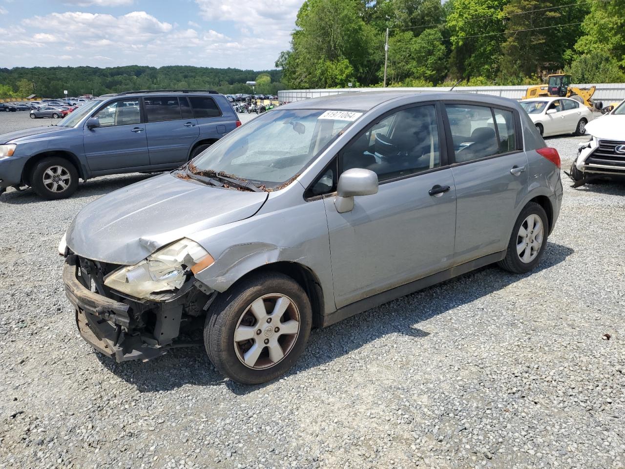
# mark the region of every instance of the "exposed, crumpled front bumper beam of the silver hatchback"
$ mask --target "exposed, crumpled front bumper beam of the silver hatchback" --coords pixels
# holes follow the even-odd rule
[[[63,268],[65,294],[76,311],[80,335],[93,348],[115,361],[151,360],[168,347],[149,345],[130,328],[130,306],[88,290],[78,280],[76,259],[69,256]]]

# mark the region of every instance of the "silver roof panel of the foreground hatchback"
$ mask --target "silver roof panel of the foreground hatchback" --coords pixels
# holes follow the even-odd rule
[[[454,99],[454,101],[480,101],[485,104],[514,107],[512,99],[499,98],[488,94],[457,93],[455,91],[436,91],[414,93],[414,91],[355,91],[352,93],[334,94],[321,98],[304,99],[294,103],[284,104],[281,109],[330,109],[346,111],[369,111],[379,104],[398,100],[418,103],[420,101],[440,101]]]

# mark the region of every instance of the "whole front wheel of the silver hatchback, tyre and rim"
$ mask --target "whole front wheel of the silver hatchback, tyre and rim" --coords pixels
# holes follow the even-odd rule
[[[204,345],[217,370],[238,383],[273,380],[291,368],[306,347],[310,301],[292,278],[252,276],[217,297],[206,316]]]

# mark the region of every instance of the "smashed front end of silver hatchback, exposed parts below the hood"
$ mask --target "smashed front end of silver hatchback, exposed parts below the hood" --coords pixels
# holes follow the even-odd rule
[[[151,360],[173,347],[201,345],[201,340],[194,340],[187,333],[201,330],[203,317],[216,292],[197,281],[192,268],[184,263],[181,265],[183,278],[176,279],[176,286],[169,290],[149,291],[154,285],[148,288],[144,285],[154,283],[154,273],[144,269],[148,279],[139,279],[143,290],[135,289],[136,294],[144,298],[120,291],[133,291],[128,281],[123,285],[121,273],[131,271],[130,278],[133,278],[133,269],[140,265],[143,263],[120,266],[93,261],[68,250],[63,283],[76,311],[80,335],[118,363]],[[172,278],[170,273],[166,280]],[[182,340],[181,336],[187,339]]]

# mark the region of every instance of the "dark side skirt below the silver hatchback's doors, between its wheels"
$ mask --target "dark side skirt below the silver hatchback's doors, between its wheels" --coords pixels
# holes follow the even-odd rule
[[[371,310],[371,308],[375,308],[379,305],[384,305],[384,303],[388,303],[389,301],[396,300],[397,298],[401,298],[402,296],[409,295],[410,293],[414,293],[415,291],[423,290],[428,286],[436,285],[437,283],[449,280],[450,278],[454,278],[459,275],[466,274],[467,272],[471,272],[472,270],[479,269],[480,267],[484,267],[497,261],[501,261],[505,257],[506,251],[489,254],[487,256],[466,262],[464,264],[454,266],[442,272],[420,278],[419,280],[415,280],[410,283],[406,283],[406,285],[400,285],[392,288],[391,290],[382,291],[382,293],[377,293],[377,295],[369,296],[368,298],[364,298],[363,300],[351,303],[351,305],[343,306],[339,310],[334,311],[334,313],[332,313],[331,315],[324,316],[321,327],[331,326],[332,324],[349,318],[350,316],[362,313],[362,311]]]

